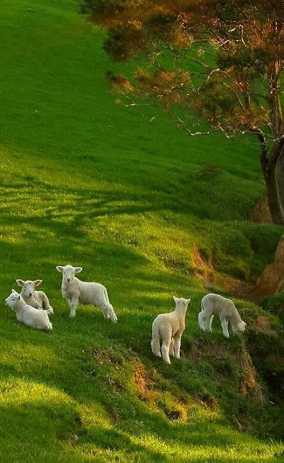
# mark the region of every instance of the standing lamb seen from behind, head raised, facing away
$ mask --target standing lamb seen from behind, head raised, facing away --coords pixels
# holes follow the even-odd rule
[[[170,355],[180,358],[180,340],[185,331],[185,313],[190,299],[176,298],[175,310],[161,313],[153,321],[151,348],[154,355],[163,357],[165,363],[170,363]],[[160,339],[162,348],[160,349]],[[162,351],[162,355],[160,354]]]

